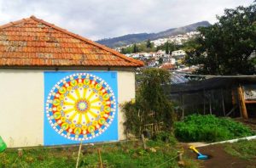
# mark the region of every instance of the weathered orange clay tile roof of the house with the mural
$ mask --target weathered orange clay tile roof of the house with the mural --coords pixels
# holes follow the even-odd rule
[[[0,26],[0,66],[143,66],[34,16]]]

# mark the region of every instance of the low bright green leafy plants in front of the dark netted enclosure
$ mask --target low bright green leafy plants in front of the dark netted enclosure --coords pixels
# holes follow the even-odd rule
[[[214,115],[189,115],[174,124],[174,133],[179,140],[185,142],[218,142],[255,134],[239,122]]]

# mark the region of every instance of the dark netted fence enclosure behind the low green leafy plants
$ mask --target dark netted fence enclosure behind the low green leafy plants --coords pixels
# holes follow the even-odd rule
[[[256,78],[211,78],[187,81],[164,86],[168,97],[177,104],[176,112],[181,118],[190,114],[239,117],[247,113],[255,117],[255,104],[240,103],[241,85],[253,84]]]

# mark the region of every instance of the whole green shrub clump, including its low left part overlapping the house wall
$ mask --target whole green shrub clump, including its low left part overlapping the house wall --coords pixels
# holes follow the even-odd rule
[[[138,80],[138,79],[137,79]],[[140,126],[154,123],[170,130],[173,122],[173,105],[163,91],[163,85],[170,81],[168,70],[146,69],[139,77],[136,102],[122,105],[125,113],[125,132],[140,133]],[[150,116],[154,111],[154,117]]]

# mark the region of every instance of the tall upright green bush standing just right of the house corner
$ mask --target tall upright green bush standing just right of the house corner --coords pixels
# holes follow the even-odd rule
[[[145,112],[154,111],[154,122],[164,121],[166,127],[172,126],[172,103],[163,91],[163,85],[170,81],[168,70],[143,70],[142,82],[137,94],[137,103]],[[146,114],[146,118],[147,118]]]

